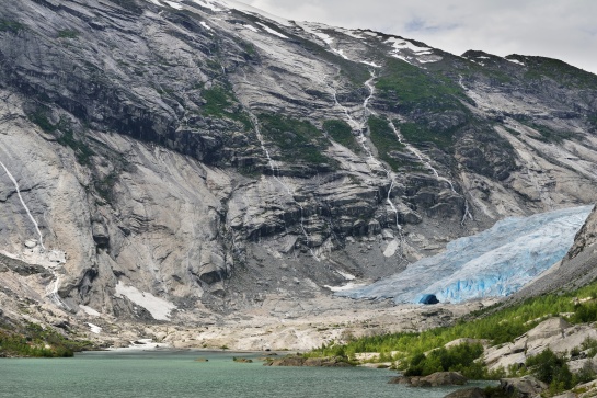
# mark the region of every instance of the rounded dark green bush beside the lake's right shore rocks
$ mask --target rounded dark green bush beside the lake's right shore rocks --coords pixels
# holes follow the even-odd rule
[[[409,361],[405,376],[427,376],[436,372],[460,372],[470,379],[487,378],[483,363],[477,361],[483,354],[483,345],[458,344],[439,348],[427,354],[418,353]]]

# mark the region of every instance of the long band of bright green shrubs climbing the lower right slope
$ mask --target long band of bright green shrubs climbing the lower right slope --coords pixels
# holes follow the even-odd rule
[[[578,302],[575,298],[578,298]],[[451,327],[430,329],[421,333],[402,332],[370,336],[354,339],[346,344],[331,342],[311,351],[308,355],[354,357],[356,353],[360,352],[379,352],[381,354],[380,362],[399,361],[403,368],[422,368],[422,372],[434,368],[438,361],[436,356],[438,356],[439,363],[441,363],[441,359],[448,361],[446,360],[448,357],[449,363],[459,362],[452,366],[461,365],[466,372],[474,373],[479,372],[477,366],[467,367],[470,366],[470,359],[474,356],[470,354],[475,352],[474,348],[459,349],[463,351],[456,352],[450,352],[450,349],[447,349],[446,352],[439,350],[438,354],[433,355],[430,353],[425,355],[425,353],[441,349],[446,343],[461,338],[484,339],[494,345],[512,342],[546,318],[560,314],[570,315],[566,319],[573,323],[597,321],[597,282],[573,292],[559,292],[529,298],[507,308],[489,307],[484,311],[471,314]],[[581,349],[597,353],[597,341],[587,340]],[[422,354],[425,355],[425,361],[423,361]],[[466,359],[468,362],[463,360],[451,362],[454,357]],[[532,365],[529,366],[532,367]],[[494,376],[500,375],[485,374],[485,377]]]

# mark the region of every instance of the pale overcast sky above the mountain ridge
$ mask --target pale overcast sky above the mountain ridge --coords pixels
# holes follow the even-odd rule
[[[289,20],[415,38],[460,55],[540,55],[597,73],[596,0],[241,0]]]

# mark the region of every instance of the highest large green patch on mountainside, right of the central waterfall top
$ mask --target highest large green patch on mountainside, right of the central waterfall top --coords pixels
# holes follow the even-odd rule
[[[400,109],[405,112],[468,112],[460,103],[461,100],[467,101],[467,96],[458,84],[400,59],[388,59],[376,87],[380,98],[398,100]]]

